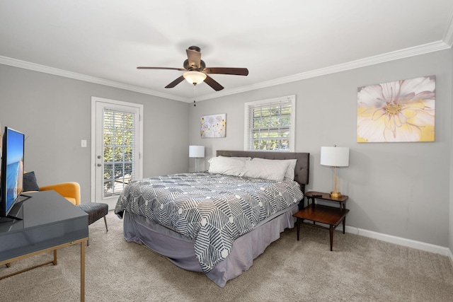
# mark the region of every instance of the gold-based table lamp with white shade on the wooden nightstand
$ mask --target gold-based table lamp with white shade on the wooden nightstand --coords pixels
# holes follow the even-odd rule
[[[321,147],[321,165],[333,167],[333,190],[332,198],[341,198],[343,195],[338,192],[338,167],[348,167],[349,148],[348,147]]]

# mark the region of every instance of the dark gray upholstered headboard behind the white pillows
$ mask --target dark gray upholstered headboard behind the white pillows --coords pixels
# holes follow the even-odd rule
[[[258,157],[266,159],[297,159],[294,180],[304,188],[309,183],[310,153],[280,151],[226,151],[217,150],[217,156]]]

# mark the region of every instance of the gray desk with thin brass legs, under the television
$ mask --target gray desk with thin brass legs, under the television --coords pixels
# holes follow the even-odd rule
[[[0,265],[7,265],[42,252],[54,252],[50,262],[21,272],[53,263],[57,265],[57,250],[80,243],[80,294],[85,300],[85,242],[88,240],[88,214],[75,207],[55,191],[27,194],[22,202],[23,220],[0,223]],[[9,274],[0,279],[11,277]]]

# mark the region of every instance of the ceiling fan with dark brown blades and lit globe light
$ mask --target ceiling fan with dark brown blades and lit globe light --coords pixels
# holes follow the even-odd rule
[[[148,66],[138,66],[137,69],[171,69],[185,71],[185,73],[180,76],[175,81],[169,83],[165,88],[173,88],[178,83],[186,79],[189,83],[197,85],[202,81],[205,81],[207,85],[211,86],[214,91],[221,91],[224,86],[220,85],[212,79],[208,74],[232,74],[236,76],[246,76],[248,75],[248,69],[246,68],[233,68],[233,67],[206,67],[205,62],[201,59],[200,47],[190,46],[187,50],[188,59],[184,61],[184,68],[173,68],[173,67],[148,67]]]

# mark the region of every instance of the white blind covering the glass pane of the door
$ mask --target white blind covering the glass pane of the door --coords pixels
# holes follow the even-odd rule
[[[134,179],[135,115],[105,109],[103,112],[104,197],[118,195]]]

